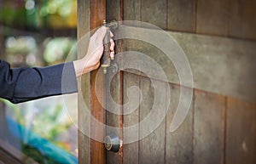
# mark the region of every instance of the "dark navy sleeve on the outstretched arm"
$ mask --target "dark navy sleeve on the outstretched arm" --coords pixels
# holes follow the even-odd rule
[[[10,69],[0,60],[0,98],[12,103],[78,91],[73,62],[42,68]]]

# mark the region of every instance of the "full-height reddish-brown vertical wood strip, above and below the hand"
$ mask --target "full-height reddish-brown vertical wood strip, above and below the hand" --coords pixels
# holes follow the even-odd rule
[[[90,30],[102,26],[103,20],[106,20],[106,1],[90,0]],[[98,81],[102,82],[96,85],[96,76]],[[98,93],[96,93],[96,88]],[[90,105],[91,116],[96,121],[90,121],[90,163],[105,164],[106,150],[103,144],[105,137],[105,127],[100,127],[96,122],[106,122],[105,105],[105,77],[102,70],[90,72]],[[100,103],[101,102],[101,103]],[[94,139],[98,139],[97,141]]]

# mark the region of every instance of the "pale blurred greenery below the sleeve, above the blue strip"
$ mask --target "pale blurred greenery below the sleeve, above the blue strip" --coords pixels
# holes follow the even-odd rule
[[[23,109],[21,105],[14,105],[8,100],[0,99],[8,106],[11,118],[20,125],[28,128],[33,133],[37,133],[44,139],[56,144],[63,150],[68,150],[66,143],[61,143],[57,137],[61,133],[67,132],[67,129],[72,126],[69,118],[63,117],[66,112],[61,104],[49,105],[47,109],[40,109],[40,112],[35,112],[29,109]],[[26,111],[25,111],[26,110]],[[64,118],[64,119],[63,119]],[[30,123],[28,123],[30,122]]]

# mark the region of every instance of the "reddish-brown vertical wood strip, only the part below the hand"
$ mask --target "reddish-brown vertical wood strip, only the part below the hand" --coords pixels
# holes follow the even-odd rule
[[[98,75],[97,75],[98,74]],[[96,84],[97,81],[101,82]],[[91,163],[106,163],[106,149],[103,144],[103,139],[106,135],[105,127],[100,126],[97,122],[106,123],[106,99],[105,99],[105,77],[102,69],[92,71],[90,73],[90,92],[91,92],[91,116],[96,118],[90,121],[90,162]],[[96,88],[99,92],[96,92]],[[98,140],[94,140],[98,139]]]

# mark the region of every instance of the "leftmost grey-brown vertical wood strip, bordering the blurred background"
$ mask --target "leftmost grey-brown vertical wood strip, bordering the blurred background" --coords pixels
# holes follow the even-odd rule
[[[90,31],[90,0],[78,0],[78,40]],[[84,38],[86,40],[86,38]],[[87,38],[88,39],[88,38]],[[84,56],[84,45],[78,44],[78,57]],[[78,79],[79,163],[90,164],[90,116],[84,112],[84,104],[90,108],[90,74]],[[89,132],[88,136],[84,132]]]

